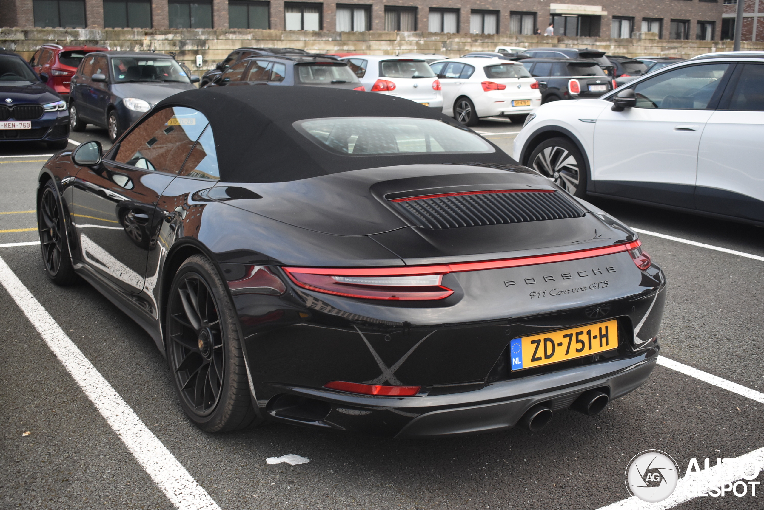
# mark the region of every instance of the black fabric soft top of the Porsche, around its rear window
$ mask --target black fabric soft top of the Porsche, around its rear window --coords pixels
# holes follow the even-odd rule
[[[406,153],[348,157],[332,153],[296,131],[293,122],[328,117],[453,118],[404,98],[343,89],[239,86],[189,90],[159,102],[154,111],[185,106],[209,119],[221,179],[225,182],[286,182],[348,170],[433,163],[516,164],[494,153]]]

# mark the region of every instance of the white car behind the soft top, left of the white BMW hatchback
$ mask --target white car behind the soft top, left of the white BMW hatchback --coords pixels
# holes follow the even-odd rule
[[[440,82],[425,60],[390,55],[353,55],[340,59],[369,92],[394,95],[440,110]]]

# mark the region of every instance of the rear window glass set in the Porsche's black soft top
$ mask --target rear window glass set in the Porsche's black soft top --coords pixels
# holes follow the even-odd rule
[[[429,118],[316,118],[294,125],[319,146],[345,156],[494,152],[477,134]]]

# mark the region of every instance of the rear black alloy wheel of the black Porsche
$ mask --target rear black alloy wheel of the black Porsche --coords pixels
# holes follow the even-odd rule
[[[202,430],[258,424],[236,312],[206,257],[181,264],[167,305],[167,360],[186,415]]]

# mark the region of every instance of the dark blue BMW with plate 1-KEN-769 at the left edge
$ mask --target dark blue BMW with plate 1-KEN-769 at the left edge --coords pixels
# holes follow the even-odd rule
[[[42,141],[51,149],[66,148],[66,102],[45,85],[47,79],[21,55],[0,50],[0,142]]]

